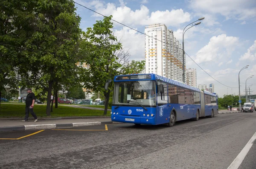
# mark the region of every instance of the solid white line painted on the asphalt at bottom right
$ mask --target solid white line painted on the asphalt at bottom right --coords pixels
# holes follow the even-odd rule
[[[256,132],[254,133],[253,137],[248,141],[248,143],[244,146],[242,151],[237,155],[235,160],[230,164],[230,166],[227,169],[238,169],[238,167],[243,162],[245,156],[249,152],[251,146],[253,145],[253,141],[256,139]]]

